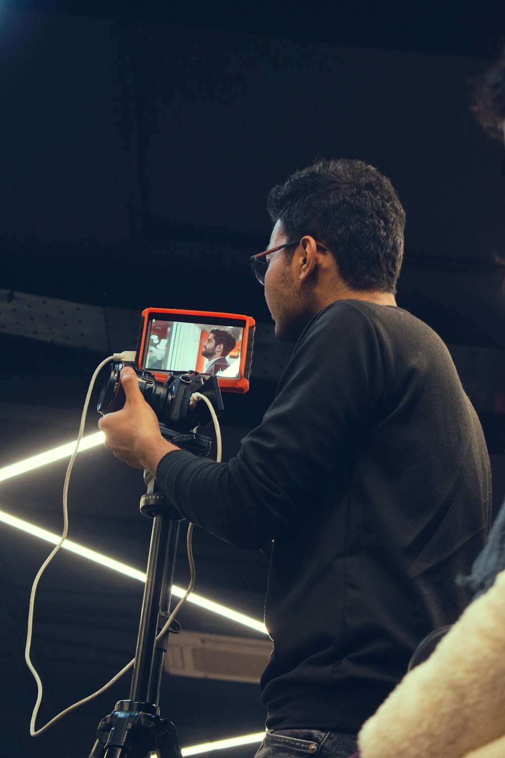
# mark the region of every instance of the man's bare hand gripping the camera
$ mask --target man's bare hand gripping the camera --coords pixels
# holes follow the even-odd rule
[[[123,368],[120,379],[126,395],[124,407],[98,421],[105,447],[129,466],[155,474],[163,456],[178,448],[161,436],[156,414],[142,397],[135,371]]]

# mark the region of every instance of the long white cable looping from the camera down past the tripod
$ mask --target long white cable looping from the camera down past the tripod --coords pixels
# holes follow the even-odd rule
[[[33,663],[30,659],[30,647],[32,643],[32,632],[33,632],[33,608],[35,604],[35,594],[36,590],[40,581],[40,578],[45,571],[45,568],[47,568],[48,564],[51,562],[51,560],[55,557],[56,553],[58,553],[58,550],[60,550],[62,544],[67,538],[68,533],[68,507],[67,507],[67,493],[68,493],[68,484],[70,481],[70,473],[73,468],[73,462],[76,459],[77,452],[79,450],[79,442],[83,437],[84,432],[84,424],[86,421],[86,413],[88,411],[89,406],[89,400],[91,398],[91,393],[93,390],[93,387],[95,385],[96,377],[98,376],[101,369],[104,367],[104,365],[107,365],[111,361],[126,361],[126,362],[132,362],[135,360],[136,354],[135,352],[123,352],[123,353],[114,353],[114,356],[110,356],[109,358],[105,359],[101,362],[100,365],[95,369],[95,373],[92,375],[92,379],[89,382],[89,388],[88,392],[86,394],[86,399],[84,401],[83,406],[83,413],[81,415],[81,422],[79,426],[79,434],[77,435],[76,440],[76,446],[73,451],[72,457],[70,458],[70,462],[68,464],[67,468],[67,474],[65,475],[65,481],[64,481],[64,487],[63,487],[63,518],[64,518],[64,529],[63,534],[61,535],[61,539],[58,542],[58,544],[55,546],[54,550],[52,550],[51,554],[48,556],[47,559],[45,559],[45,562],[42,564],[42,566],[39,568],[39,572],[36,575],[36,578],[33,581],[32,591],[30,593],[30,605],[28,609],[28,629],[26,632],[26,648],[25,648],[25,660],[26,665],[30,669],[30,671],[33,674],[33,678],[35,678],[35,681],[37,683],[37,700],[35,703],[35,706],[33,708],[32,718],[30,720],[30,735],[32,737],[36,737],[38,735],[42,735],[43,732],[47,731],[48,728],[50,728],[55,722],[59,721],[59,719],[63,718],[63,716],[66,716],[67,713],[70,713],[71,711],[75,710],[76,708],[79,708],[79,706],[84,705],[85,703],[89,703],[91,700],[93,700],[95,697],[98,697],[98,695],[101,695],[104,693],[108,688],[110,688],[115,682],[120,679],[120,677],[123,676],[123,674],[126,674],[129,669],[132,668],[133,664],[135,663],[135,658],[133,658],[129,663],[126,664],[126,666],[123,667],[123,669],[120,670],[120,672],[117,672],[117,674],[111,678],[110,681],[107,682],[107,684],[104,684],[103,687],[101,687],[96,692],[92,693],[91,695],[88,695],[87,697],[84,697],[83,700],[79,700],[78,703],[73,703],[73,705],[69,706],[68,708],[61,711],[61,713],[58,713],[58,716],[54,716],[50,721],[48,721],[47,724],[42,726],[40,729],[35,728],[35,722],[36,718],[39,713],[39,707],[40,703],[42,703],[42,681],[39,677],[38,672],[35,669],[35,666],[33,666]],[[214,429],[216,431],[216,440],[217,440],[217,462],[221,461],[221,452],[222,452],[222,445],[221,445],[221,432],[220,432],[220,425],[219,421],[217,421],[217,415],[214,411],[214,407],[212,406],[212,403],[210,400],[205,397],[204,395],[201,395],[201,393],[194,393],[192,395],[192,399],[195,399],[196,401],[203,400],[210,411],[210,415],[212,416],[212,420],[214,421]],[[192,534],[193,534],[193,527],[194,525],[190,522],[188,526],[188,534],[186,537],[186,547],[188,551],[188,561],[189,561],[189,568],[190,568],[190,578],[189,578],[189,585],[188,589],[185,591],[185,594],[181,597],[179,600],[179,603],[177,603],[175,609],[173,609],[173,612],[170,613],[169,618],[167,619],[167,622],[165,623],[164,627],[161,629],[159,634],[157,634],[156,641],[160,641],[162,637],[164,637],[165,634],[167,634],[167,631],[170,628],[170,625],[173,622],[173,619],[175,619],[177,613],[181,609],[183,603],[185,603],[185,600],[189,597],[189,595],[192,593],[193,587],[195,587],[195,579],[196,579],[196,573],[195,573],[195,560],[193,558],[193,551],[192,551]]]

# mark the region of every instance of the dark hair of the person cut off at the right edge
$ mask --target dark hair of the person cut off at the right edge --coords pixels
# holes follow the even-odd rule
[[[505,51],[477,80],[472,110],[479,124],[491,136],[503,139],[505,122]]]

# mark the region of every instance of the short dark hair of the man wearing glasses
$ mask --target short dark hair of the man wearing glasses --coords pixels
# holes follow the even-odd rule
[[[267,210],[274,222],[280,219],[288,240],[310,234],[326,245],[349,287],[396,292],[405,211],[391,182],[373,166],[318,160],[273,187]]]

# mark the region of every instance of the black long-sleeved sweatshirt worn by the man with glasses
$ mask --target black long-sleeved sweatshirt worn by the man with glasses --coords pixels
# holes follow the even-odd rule
[[[446,347],[404,310],[361,300],[307,324],[234,459],[174,451],[157,482],[237,547],[274,540],[261,688],[276,729],[360,728],[422,637],[468,603],[454,580],[491,508],[482,428]]]

